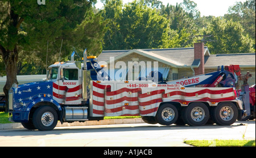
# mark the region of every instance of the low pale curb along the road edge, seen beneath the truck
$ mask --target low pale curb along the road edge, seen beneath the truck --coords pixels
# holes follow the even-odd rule
[[[85,122],[64,122],[61,124],[59,121],[56,127],[69,127],[69,126],[94,126],[94,125],[105,125],[105,124],[129,124],[129,123],[144,123],[141,118],[132,119],[104,119],[104,120],[88,120]],[[24,128],[21,123],[2,123],[0,124],[0,130],[11,130]]]

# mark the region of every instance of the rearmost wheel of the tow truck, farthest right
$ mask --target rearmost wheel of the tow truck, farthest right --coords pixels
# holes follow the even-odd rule
[[[230,102],[222,102],[213,109],[213,120],[221,126],[229,126],[236,122],[238,117],[237,107]]]

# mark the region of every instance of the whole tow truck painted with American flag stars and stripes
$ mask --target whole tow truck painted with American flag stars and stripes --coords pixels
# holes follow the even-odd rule
[[[203,126],[212,118],[225,126],[236,122],[238,111],[244,110],[234,88],[237,66],[170,82],[162,81],[159,72],[151,72],[146,80],[114,81],[86,49],[82,61],[73,59],[74,53],[71,61],[50,65],[46,81],[14,84],[9,91],[10,118],[40,131],[53,130],[58,120],[134,115],[153,124],[170,125],[181,118],[189,126]],[[204,86],[195,87],[199,84]]]

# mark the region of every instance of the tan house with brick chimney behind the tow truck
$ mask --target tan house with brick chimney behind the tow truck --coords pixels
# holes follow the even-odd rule
[[[119,70],[122,75],[115,76],[117,80],[128,80],[131,74],[133,80],[145,74],[147,76],[154,70],[154,61],[157,61],[158,70],[165,81],[213,72],[221,65],[237,64],[240,65],[242,75],[247,71],[252,74],[249,84],[255,84],[255,53],[210,55],[204,43],[195,43],[191,48],[102,51],[98,61],[108,64],[108,68],[115,69],[115,72],[122,69]],[[126,66],[119,67],[120,63]],[[131,64],[134,67],[129,71]]]

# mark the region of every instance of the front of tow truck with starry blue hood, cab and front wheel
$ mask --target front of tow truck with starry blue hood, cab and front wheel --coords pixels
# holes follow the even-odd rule
[[[94,56],[86,56],[86,49],[86,64],[71,58],[68,63],[50,65],[45,81],[13,85],[9,90],[9,112],[14,122],[30,130],[52,130],[57,120],[63,123],[89,119],[86,103],[90,95],[87,94],[91,77],[96,77],[90,72],[102,68],[95,64]]]

